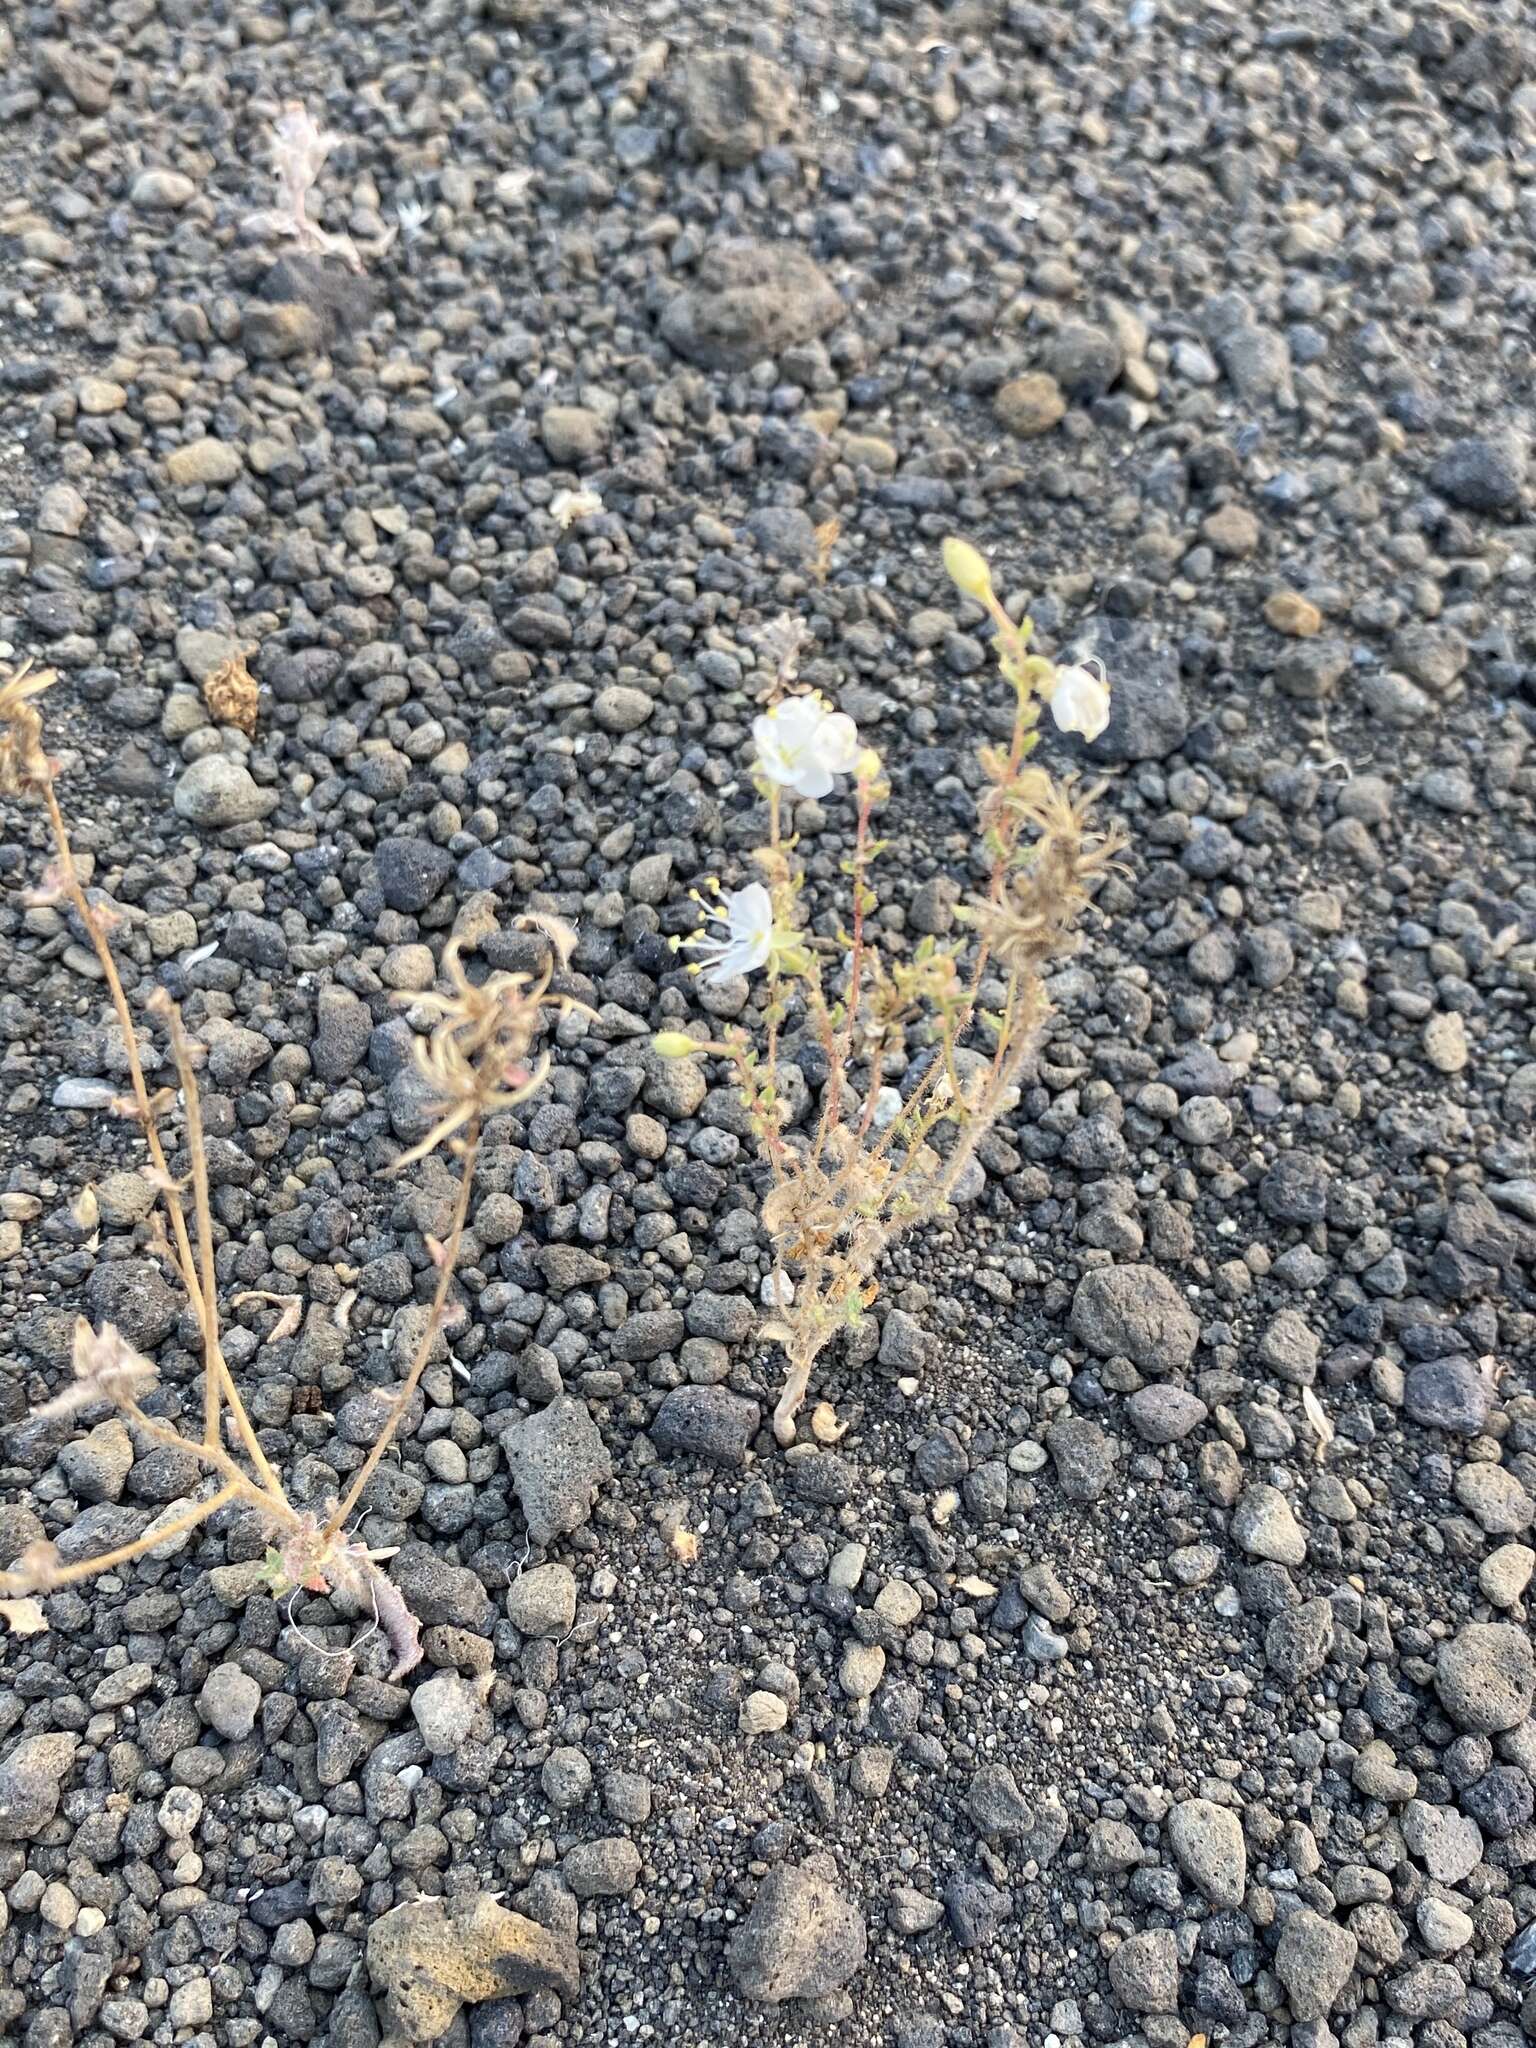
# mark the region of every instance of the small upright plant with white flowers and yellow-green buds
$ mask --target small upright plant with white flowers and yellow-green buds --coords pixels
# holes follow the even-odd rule
[[[1104,731],[1108,680],[1030,653],[1030,623],[1012,621],[977,549],[946,541],[944,567],[991,616],[997,668],[1014,692],[1010,743],[979,752],[987,881],[961,905],[963,938],[924,938],[907,956],[881,950],[868,881],[883,852],[872,813],[889,795],[881,758],[819,696],[780,696],[752,725],[754,784],[768,813],[766,844],[754,856],[762,881],[729,893],[715,885],[713,905],[696,897],[707,924],[686,942],[709,983],[766,973],[762,1049],[745,1028],[709,1040],[668,1030],[655,1040],[666,1057],[731,1063],[768,1165],[762,1225],[774,1268],[760,1337],[786,1358],[774,1411],[782,1444],[795,1442],[815,1360],[874,1300],[893,1239],[946,1208],[977,1145],[1018,1100],[1047,1018],[1044,975],[1075,948],[1077,920],[1122,844],[1092,825],[1098,788],[1079,793],[1071,778],[1055,780],[1030,762],[1042,707],[1061,731],[1087,739]],[[780,688],[791,676],[793,659],[780,664]],[[827,948],[803,930],[805,877],[784,799],[827,797],[844,776],[854,799],[854,846],[844,862],[850,915]],[[829,950],[840,954],[840,993],[827,989]],[[780,1055],[811,1047],[821,1100],[799,1126]]]

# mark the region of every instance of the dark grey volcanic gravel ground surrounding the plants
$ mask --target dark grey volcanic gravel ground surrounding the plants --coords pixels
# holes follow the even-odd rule
[[[248,221],[289,100],[360,274]],[[365,1495],[426,1661],[254,1589],[240,1513],[0,1636],[0,2038],[1536,2036],[1532,164],[1509,0],[16,0],[0,655],[209,1047],[303,1505],[434,1284],[410,993],[541,909],[596,1018],[492,1124]],[[739,1108],[649,1034],[754,1018],[668,940],[750,879],[784,616],[889,768],[879,942],[961,936],[1008,705],[948,532],[1106,664],[1044,758],[1126,872],[786,1454]],[[201,694],[242,649],[252,735]],[[834,942],[846,784],[795,827]],[[29,1421],[78,1313],[201,1401],[47,852],[0,801],[0,1567],[199,1483]],[[539,1546],[504,1440],[555,1401],[600,1454]],[[580,1991],[414,2023],[371,1929],[479,1894]]]

